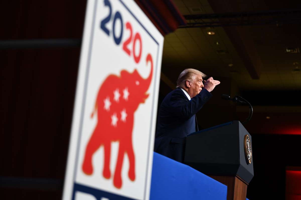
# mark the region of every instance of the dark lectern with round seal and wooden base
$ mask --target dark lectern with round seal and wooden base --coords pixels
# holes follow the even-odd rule
[[[245,200],[254,176],[252,137],[240,121],[191,133],[184,163],[227,185],[227,200]]]

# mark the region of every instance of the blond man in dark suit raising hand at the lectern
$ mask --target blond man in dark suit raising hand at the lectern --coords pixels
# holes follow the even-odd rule
[[[199,70],[185,69],[177,80],[177,88],[166,95],[160,105],[154,151],[183,163],[186,137],[198,131],[197,113],[210,99],[219,81]],[[204,84],[203,84],[204,82]]]

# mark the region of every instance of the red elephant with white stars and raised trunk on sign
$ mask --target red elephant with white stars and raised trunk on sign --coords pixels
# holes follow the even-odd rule
[[[153,75],[153,59],[147,55],[146,63],[151,62],[151,72],[147,79],[143,79],[137,70],[129,73],[126,70],[120,72],[120,77],[109,75],[102,83],[95,108],[91,118],[97,111],[97,124],[85,149],[85,157],[82,163],[82,171],[86,175],[93,173],[92,156],[101,145],[104,146],[104,178],[111,177],[110,155],[111,142],[119,141],[116,168],[113,184],[121,188],[121,169],[123,157],[127,153],[129,157],[129,179],[135,181],[135,154],[133,151],[132,131],[134,124],[134,112],[140,103],[144,103],[149,96],[146,94]]]

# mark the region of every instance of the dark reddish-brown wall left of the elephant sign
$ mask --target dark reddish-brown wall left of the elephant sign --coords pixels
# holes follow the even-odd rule
[[[0,40],[82,37],[86,1],[0,4]],[[0,49],[1,199],[61,198],[79,53]]]

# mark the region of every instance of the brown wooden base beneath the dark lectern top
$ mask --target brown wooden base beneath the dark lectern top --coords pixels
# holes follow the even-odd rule
[[[208,176],[228,187],[227,200],[246,200],[248,184],[240,177],[216,175]]]

